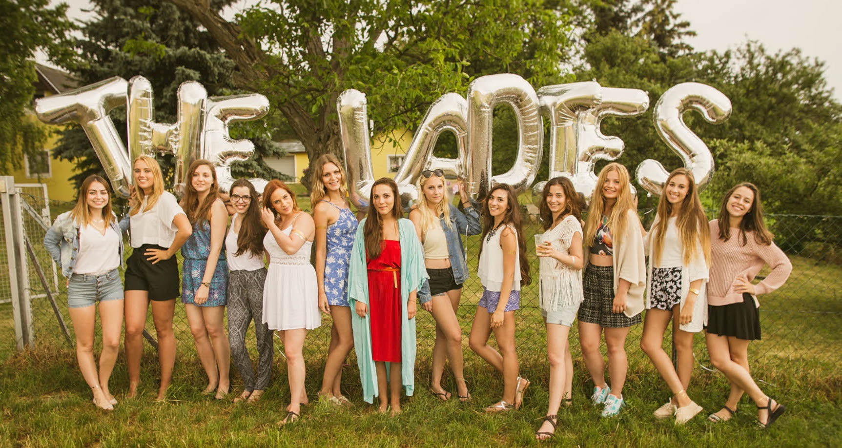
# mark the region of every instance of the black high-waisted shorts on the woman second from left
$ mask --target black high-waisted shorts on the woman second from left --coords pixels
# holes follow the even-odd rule
[[[181,293],[179,264],[172,258],[152,264],[143,253],[147,249],[166,249],[155,244],[135,248],[125,262],[125,291],[149,291],[149,300],[169,301]]]

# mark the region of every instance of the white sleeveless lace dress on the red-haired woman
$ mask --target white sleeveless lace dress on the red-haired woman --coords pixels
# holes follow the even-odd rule
[[[281,232],[289,235],[292,225]],[[264,248],[269,253],[269,271],[264,285],[263,321],[273,330],[311,330],[322,324],[318,309],[316,269],[310,264],[312,242],[305,242],[296,253],[284,252],[266,232]]]

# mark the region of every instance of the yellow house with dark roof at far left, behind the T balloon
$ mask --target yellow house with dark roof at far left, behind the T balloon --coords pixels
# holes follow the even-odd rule
[[[35,98],[55,95],[75,88],[76,85],[66,72],[35,64],[38,82],[35,84]],[[35,114],[29,115],[30,120],[38,121]],[[24,166],[12,172],[16,184],[46,184],[47,195],[50,200],[72,201],[76,199],[76,190],[68,179],[76,173],[73,163],[68,160],[58,160],[53,157],[51,149],[56,146],[58,134],[56,127],[49,126],[53,131],[47,139],[44,149],[37,156],[24,157]]]

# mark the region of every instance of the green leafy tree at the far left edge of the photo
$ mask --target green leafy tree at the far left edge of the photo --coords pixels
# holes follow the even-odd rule
[[[24,155],[43,149],[45,126],[27,116],[35,95],[35,51],[72,66],[76,54],[67,33],[67,5],[51,8],[49,0],[0,0],[0,170],[20,168]]]

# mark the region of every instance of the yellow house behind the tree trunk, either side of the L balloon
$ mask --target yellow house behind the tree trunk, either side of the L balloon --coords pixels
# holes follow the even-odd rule
[[[413,134],[409,131],[394,131],[392,138],[377,136],[371,139],[371,170],[374,179],[394,177],[401,167]],[[286,152],[284,157],[265,157],[264,162],[280,173],[293,176],[293,182],[299,182],[304,176],[304,169],[310,165],[307,153],[301,141],[283,140],[276,142]]]

